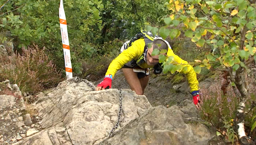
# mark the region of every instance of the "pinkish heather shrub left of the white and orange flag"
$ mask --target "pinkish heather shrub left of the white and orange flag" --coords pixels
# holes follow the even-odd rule
[[[0,56],[0,80],[9,79],[23,92],[36,93],[62,81],[61,73],[45,54],[45,47],[22,48],[22,53]]]

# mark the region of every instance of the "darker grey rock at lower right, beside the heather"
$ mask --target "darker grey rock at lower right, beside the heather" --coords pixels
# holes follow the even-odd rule
[[[188,106],[184,106],[183,111],[176,105],[148,109],[117,131],[114,137],[105,139],[99,145],[208,145],[214,135],[201,123],[186,123],[186,117],[196,118],[196,114],[183,112],[193,112],[189,110],[196,108],[192,101],[185,101]]]

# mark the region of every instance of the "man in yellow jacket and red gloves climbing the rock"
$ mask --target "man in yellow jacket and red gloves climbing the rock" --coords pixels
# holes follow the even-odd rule
[[[131,90],[135,91],[138,95],[143,95],[149,80],[149,68],[154,68],[155,74],[162,72],[162,63],[160,64],[158,59],[159,55],[152,56],[155,48],[158,48],[160,51],[166,50],[165,52],[167,53],[165,55],[173,56],[174,60],[171,62],[173,65],[185,64],[183,67],[187,69],[182,69],[180,73],[186,74],[190,85],[190,92],[193,96],[193,102],[198,108],[200,102],[199,86],[193,67],[187,61],[175,55],[167,41],[143,30],[141,33],[136,34],[130,41],[124,43],[121,47],[121,54],[110,63],[105,78],[98,84],[96,91],[111,88],[115,73],[122,68]]]

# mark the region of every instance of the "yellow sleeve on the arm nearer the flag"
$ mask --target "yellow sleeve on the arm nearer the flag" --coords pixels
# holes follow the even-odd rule
[[[114,77],[115,73],[121,69],[124,64],[131,61],[132,59],[137,60],[143,54],[144,46],[144,39],[139,39],[133,42],[132,46],[124,50],[110,63],[106,75],[111,74]]]

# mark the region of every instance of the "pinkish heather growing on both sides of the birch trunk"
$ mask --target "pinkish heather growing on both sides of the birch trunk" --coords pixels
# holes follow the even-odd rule
[[[254,76],[251,76],[250,84],[255,83],[253,79]],[[200,116],[203,120],[206,120],[212,123],[216,128],[222,128],[226,126],[226,122],[230,122],[231,119],[235,119],[235,113],[239,104],[239,97],[234,93],[234,90],[231,85],[227,86],[226,94],[224,95],[220,82],[224,81],[223,78],[216,79],[216,83],[211,85],[209,89],[201,88],[200,89]],[[256,114],[256,107],[252,107],[253,102],[256,101],[255,97],[255,88],[250,88],[251,94],[248,98],[248,101],[245,103],[245,131],[247,134],[253,138],[256,136],[256,131],[251,131],[253,123],[255,120],[252,120],[253,116]],[[225,128],[225,127],[224,127]],[[231,127],[231,129],[233,126]],[[224,129],[225,130],[225,129]]]

